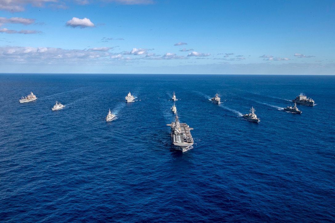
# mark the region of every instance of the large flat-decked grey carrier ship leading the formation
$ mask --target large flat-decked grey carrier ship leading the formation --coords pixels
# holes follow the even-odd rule
[[[186,123],[179,123],[178,114],[175,122],[167,124],[167,126],[171,126],[171,140],[179,150],[185,152],[193,145],[193,138],[190,132],[193,128],[190,128]]]

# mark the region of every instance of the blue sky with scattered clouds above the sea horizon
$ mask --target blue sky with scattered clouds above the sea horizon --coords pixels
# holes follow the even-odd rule
[[[334,51],[334,0],[0,0],[0,73],[334,75]]]

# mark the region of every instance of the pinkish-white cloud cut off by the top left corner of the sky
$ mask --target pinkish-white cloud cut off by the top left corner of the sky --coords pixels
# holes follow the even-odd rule
[[[45,3],[57,2],[57,0],[0,0],[0,10],[10,12],[22,12],[24,6],[31,4],[34,7],[44,7]]]

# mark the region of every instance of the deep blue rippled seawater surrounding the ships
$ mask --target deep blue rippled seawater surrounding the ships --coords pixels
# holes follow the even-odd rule
[[[0,93],[0,222],[335,222],[335,76],[1,74]],[[283,111],[300,93],[317,105]]]

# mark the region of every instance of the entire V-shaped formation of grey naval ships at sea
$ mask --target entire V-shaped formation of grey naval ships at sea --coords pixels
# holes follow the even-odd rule
[[[29,95],[26,97],[22,97],[19,102],[24,103],[24,102],[30,102],[30,101],[35,101],[37,99],[36,95],[30,92]],[[127,96],[125,97],[126,102],[133,102],[135,100],[135,97],[131,95],[129,92]],[[178,99],[176,98],[175,92],[173,92],[172,100],[175,102]],[[211,101],[213,103],[219,104],[220,103],[220,97],[218,94],[215,95],[215,97],[211,98]],[[299,104],[305,104],[305,105],[315,105],[314,100],[311,98],[307,98],[306,95],[300,94],[297,96],[295,99],[292,100],[294,102],[294,106],[287,106],[286,108],[283,108],[287,112],[291,113],[296,113],[296,114],[301,114],[302,111],[300,111],[296,103]],[[52,110],[59,110],[64,108],[65,106],[61,104],[60,102],[56,101],[56,104],[53,106]],[[193,138],[191,135],[190,130],[193,130],[193,128],[190,128],[186,123],[180,123],[179,122],[179,117],[177,113],[177,107],[175,103],[173,104],[171,108],[172,112],[176,115],[175,121],[172,122],[171,124],[167,124],[167,126],[171,126],[171,141],[174,147],[177,149],[185,152],[190,149],[190,147],[194,144]],[[116,116],[111,112],[111,109],[109,109],[109,113],[106,117],[106,122],[112,121]],[[257,118],[257,115],[255,114],[255,109],[254,107],[251,107],[250,113],[242,115],[242,117],[250,122],[255,122],[258,123],[260,122],[260,119]]]

